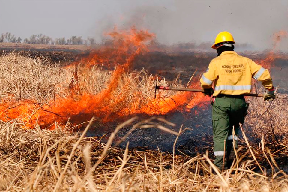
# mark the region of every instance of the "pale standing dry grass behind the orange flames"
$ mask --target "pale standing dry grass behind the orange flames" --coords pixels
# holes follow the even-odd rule
[[[106,88],[112,73],[113,71],[103,69],[103,66],[88,68],[81,64],[76,66],[72,64],[68,67],[61,67],[41,55],[30,58],[11,52],[0,57],[0,95],[1,99],[9,98],[9,100],[16,101],[33,99],[45,102],[52,100],[55,95],[66,97],[71,82],[79,84],[80,92],[95,95]],[[75,79],[75,74],[77,79]],[[120,81],[116,92],[126,86],[131,92],[141,91],[144,94],[155,84],[153,76],[147,74],[144,69],[127,73]],[[165,79],[158,83],[168,85]],[[152,94],[153,91],[150,93]],[[173,94],[173,92],[168,93],[170,93],[168,95]]]

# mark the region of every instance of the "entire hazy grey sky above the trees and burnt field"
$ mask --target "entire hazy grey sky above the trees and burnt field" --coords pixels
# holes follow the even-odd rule
[[[229,31],[236,43],[269,49],[274,33],[288,32],[288,0],[0,0],[0,34],[11,32],[22,39],[43,33],[52,38],[91,36],[101,42],[114,26],[132,25],[154,32],[164,44],[212,42],[218,32]],[[288,37],[278,49],[288,50]]]

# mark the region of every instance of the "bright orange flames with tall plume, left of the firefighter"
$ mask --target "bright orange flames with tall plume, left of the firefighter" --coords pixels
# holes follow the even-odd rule
[[[130,31],[119,31],[115,28],[107,35],[112,39],[104,47],[91,52],[88,57],[66,66],[75,67],[74,78],[67,90],[70,92],[67,98],[58,97],[48,104],[38,104],[33,100],[17,103],[6,101],[0,106],[0,119],[9,121],[19,118],[28,128],[33,128],[38,124],[41,128],[53,129],[55,122],[65,125],[67,121],[70,121],[74,125],[78,125],[90,120],[92,116],[96,116],[99,121],[106,123],[137,114],[165,115],[175,110],[191,109],[197,103],[207,100],[203,94],[194,94],[193,96],[191,93],[178,92],[171,97],[158,95],[156,99],[147,98],[143,102],[141,93],[134,92],[133,95],[130,95],[133,102],[126,105],[128,84],[121,86],[119,94],[115,93],[119,89],[123,75],[129,72],[129,67],[135,57],[149,51],[146,44],[155,38],[155,34],[132,27]],[[107,87],[93,95],[81,91],[78,73],[81,72],[79,68],[85,72],[85,68],[95,65],[105,66],[113,73]],[[191,99],[192,101],[187,105]]]

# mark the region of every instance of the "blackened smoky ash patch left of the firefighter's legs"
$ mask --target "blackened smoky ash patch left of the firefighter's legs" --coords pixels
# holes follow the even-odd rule
[[[211,106],[208,106],[208,109],[205,110],[195,107],[190,112],[174,112],[159,117],[176,124],[176,126],[170,126],[164,122],[155,120],[159,125],[177,133],[181,126],[182,130],[185,129],[177,139],[175,145],[176,154],[197,155],[198,153],[205,153],[206,150],[210,151],[212,149]],[[145,117],[139,119],[142,118]],[[146,116],[146,118],[149,117]],[[112,127],[115,128],[116,126],[107,126],[101,130],[94,126],[94,128],[92,127],[88,131],[87,136],[101,137],[101,142],[106,143],[110,134],[114,131],[114,129],[111,129]],[[131,130],[131,127],[132,125],[122,128],[114,139],[114,143],[121,140]],[[136,128],[119,146],[125,148],[129,142],[130,149],[159,149],[162,152],[173,152],[173,144],[176,138],[176,135],[158,128]]]

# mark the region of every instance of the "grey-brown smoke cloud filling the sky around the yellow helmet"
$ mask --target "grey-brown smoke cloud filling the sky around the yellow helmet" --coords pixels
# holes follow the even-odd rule
[[[274,49],[274,34],[288,32],[288,1],[170,1],[123,13],[122,27],[149,29],[161,44],[193,42],[211,45],[221,31],[235,38],[236,50]],[[277,49],[288,51],[288,38],[280,36]],[[207,49],[208,46],[206,47]]]

